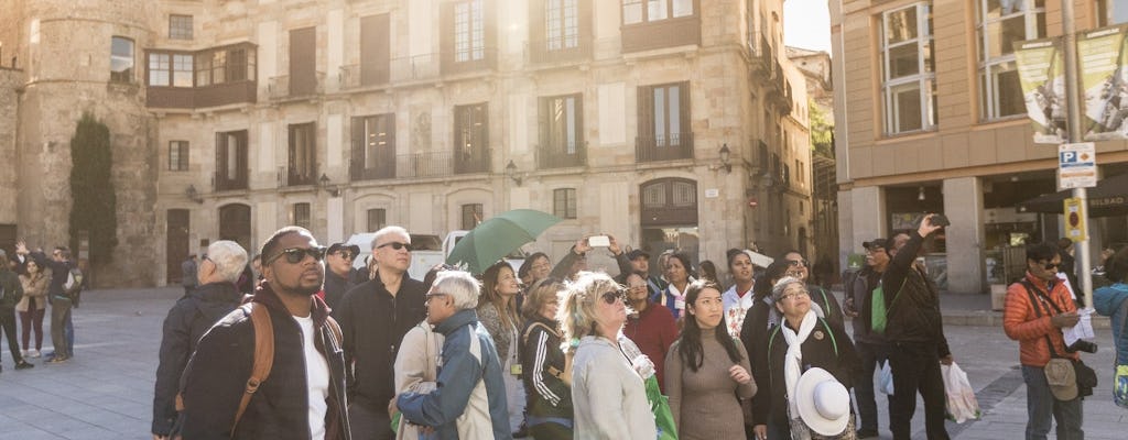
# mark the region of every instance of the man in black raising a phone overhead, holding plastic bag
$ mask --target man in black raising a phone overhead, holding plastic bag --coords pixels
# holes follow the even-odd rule
[[[889,367],[895,394],[890,396],[889,428],[893,439],[909,439],[916,394],[924,398],[925,430],[929,440],[946,440],[944,429],[944,380],[940,363],[952,363],[940,313],[940,290],[916,264],[924,239],[942,226],[929,214],[916,231],[893,236],[887,252],[892,260],[881,277],[885,298]]]

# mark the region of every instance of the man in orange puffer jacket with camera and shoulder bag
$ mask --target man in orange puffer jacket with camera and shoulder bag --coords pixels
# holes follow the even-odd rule
[[[1078,321],[1077,307],[1065,284],[1057,278],[1061,255],[1051,243],[1026,248],[1026,276],[1006,289],[1003,330],[1019,341],[1022,377],[1026,383],[1026,440],[1046,439],[1050,416],[1057,421],[1058,439],[1083,439],[1082,397],[1060,401],[1050,392],[1045,367],[1052,356],[1076,359],[1068,352],[1061,329]]]

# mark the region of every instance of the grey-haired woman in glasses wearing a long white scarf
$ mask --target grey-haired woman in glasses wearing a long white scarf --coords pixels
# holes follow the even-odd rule
[[[821,318],[811,309],[811,293],[801,279],[784,277],[773,286],[772,296],[783,320],[767,339],[769,380],[760,384],[760,392],[768,389],[772,404],[767,425],[756,426],[756,434],[759,439],[791,439],[792,426],[805,426],[799,420],[796,399],[787,398],[795,396],[799,377],[818,367],[849,389],[861,363],[841,324]],[[838,435],[820,437],[811,432],[810,437],[801,438],[854,439],[854,417],[849,416]]]

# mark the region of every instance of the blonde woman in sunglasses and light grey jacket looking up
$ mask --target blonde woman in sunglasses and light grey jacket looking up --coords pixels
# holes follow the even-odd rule
[[[653,363],[622,335],[624,293],[606,273],[580,272],[559,321],[564,349],[574,350],[572,402],[578,439],[654,439],[658,431],[643,375]]]

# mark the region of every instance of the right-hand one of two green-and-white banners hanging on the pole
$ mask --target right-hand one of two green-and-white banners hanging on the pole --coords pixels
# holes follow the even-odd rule
[[[1081,88],[1084,93],[1085,141],[1128,138],[1128,25],[1077,36]]]

